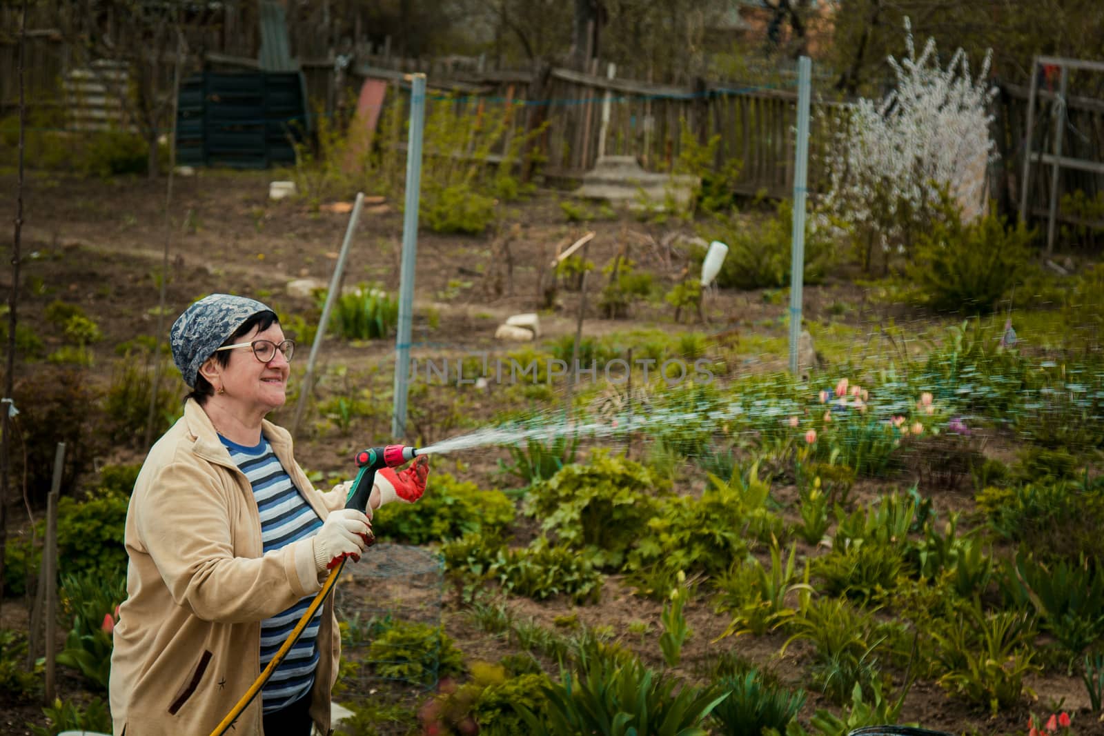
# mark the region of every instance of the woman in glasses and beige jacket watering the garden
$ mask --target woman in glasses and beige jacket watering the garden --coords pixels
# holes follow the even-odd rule
[[[363,552],[370,518],[347,487],[316,491],[288,433],[295,343],[253,299],[205,297],[177,319],[172,358],[192,390],[149,452],[127,512],[127,600],[112,654],[115,734],[205,736],[257,679],[327,567]],[[420,458],[424,460],[424,458]],[[368,513],[417,500],[427,466],[376,473]],[[234,723],[237,736],[330,729],[340,636],[332,597]]]

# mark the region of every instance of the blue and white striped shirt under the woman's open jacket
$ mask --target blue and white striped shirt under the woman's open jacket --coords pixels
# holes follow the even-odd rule
[[[244,447],[222,435],[219,439],[230,451],[230,458],[253,484],[253,495],[257,501],[257,511],[261,512],[261,542],[265,554],[318,533],[322,520],[296,489],[267,439],[262,437],[256,447]],[[302,598],[261,623],[262,670],[272,661],[312,599],[312,596]],[[265,683],[261,697],[266,714],[279,711],[310,692],[315,683],[315,668],[318,665],[316,639],[321,620],[322,609],[319,608],[295,647]]]

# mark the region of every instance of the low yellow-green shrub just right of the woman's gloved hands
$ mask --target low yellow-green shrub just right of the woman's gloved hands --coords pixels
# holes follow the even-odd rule
[[[484,491],[443,472],[431,477],[429,490],[416,504],[390,503],[379,509],[372,529],[382,537],[425,544],[471,532],[493,533],[513,518],[513,502],[501,491]]]

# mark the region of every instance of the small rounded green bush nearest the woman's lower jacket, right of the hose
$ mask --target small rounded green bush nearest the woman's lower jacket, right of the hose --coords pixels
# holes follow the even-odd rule
[[[464,671],[464,655],[439,626],[395,621],[368,647],[368,660],[381,678],[432,685]]]

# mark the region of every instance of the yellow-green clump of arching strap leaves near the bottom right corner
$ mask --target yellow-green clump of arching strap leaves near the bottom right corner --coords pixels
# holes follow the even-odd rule
[[[1012,707],[1026,690],[1023,678],[1039,670],[1029,649],[1034,634],[1027,612],[985,614],[975,600],[943,631],[932,631],[945,672],[940,684],[992,714]]]

